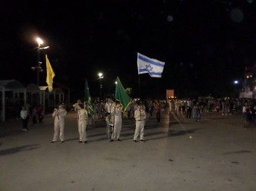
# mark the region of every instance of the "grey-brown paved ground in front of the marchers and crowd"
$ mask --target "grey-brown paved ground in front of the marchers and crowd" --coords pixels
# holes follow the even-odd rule
[[[150,118],[144,143],[133,142],[134,120],[124,120],[122,142],[109,142],[105,121],[87,127],[78,143],[68,113],[65,143],[50,143],[53,118],[21,130],[0,124],[0,190],[256,190],[256,125],[237,115],[202,120]]]

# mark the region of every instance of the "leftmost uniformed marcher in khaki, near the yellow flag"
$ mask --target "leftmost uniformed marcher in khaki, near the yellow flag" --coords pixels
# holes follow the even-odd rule
[[[52,113],[52,117],[54,117],[54,135],[52,139],[52,143],[56,142],[58,139],[61,139],[61,142],[65,142],[64,138],[64,127],[65,127],[65,115],[67,114],[67,111],[65,108],[63,108],[63,105],[58,105],[58,108],[55,108],[55,110]]]

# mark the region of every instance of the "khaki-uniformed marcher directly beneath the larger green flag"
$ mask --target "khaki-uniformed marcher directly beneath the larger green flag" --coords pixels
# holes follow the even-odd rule
[[[120,102],[115,102],[115,105],[111,109],[111,114],[113,115],[113,121],[114,121],[114,131],[112,133],[112,137],[110,139],[110,142],[112,142],[115,138],[118,141],[121,141],[119,139],[121,129],[122,129],[122,111],[121,111],[121,105]]]

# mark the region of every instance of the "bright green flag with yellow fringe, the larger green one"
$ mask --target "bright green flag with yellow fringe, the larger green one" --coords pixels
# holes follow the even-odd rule
[[[118,100],[122,105],[122,112],[125,112],[125,110],[128,108],[128,105],[131,103],[131,98],[128,96],[127,92],[125,92],[119,77],[116,77],[115,100]]]

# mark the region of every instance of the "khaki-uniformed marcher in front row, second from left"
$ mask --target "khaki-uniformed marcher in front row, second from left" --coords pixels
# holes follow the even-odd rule
[[[88,113],[83,108],[82,104],[74,105],[77,109],[77,123],[78,123],[78,133],[79,133],[79,142],[87,143],[87,120],[88,120]]]

